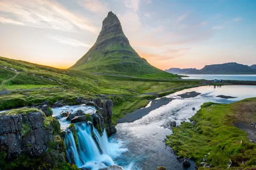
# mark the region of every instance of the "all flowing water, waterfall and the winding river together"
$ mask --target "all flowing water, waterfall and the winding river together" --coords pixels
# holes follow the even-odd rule
[[[202,94],[193,98],[176,96],[191,91]],[[223,99],[216,97],[218,95],[237,98]],[[176,121],[178,125],[182,121],[189,121],[188,118],[196,114],[200,105],[205,102],[232,103],[256,97],[256,86],[202,86],[182,90],[166,97],[174,100],[137,121],[117,124],[117,133],[111,138],[107,138],[105,132],[102,136],[99,135],[90,122],[76,124],[78,148],[70,131],[67,131],[68,135],[65,138],[69,161],[75,162],[78,167],[95,170],[113,164],[122,166],[125,170],[156,170],[157,166],[164,166],[168,170],[195,169],[194,166],[182,167],[182,163],[176,159],[172,150],[166,147],[164,138],[172,134],[170,121]],[[60,118],[59,112],[65,109],[74,111],[80,107],[87,111],[95,111],[91,106],[66,106],[53,109],[54,116],[59,118],[62,128],[67,127],[69,123]],[[92,131],[95,138],[92,137]]]

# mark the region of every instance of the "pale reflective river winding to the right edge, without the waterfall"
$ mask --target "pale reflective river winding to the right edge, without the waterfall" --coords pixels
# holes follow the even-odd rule
[[[176,96],[191,91],[202,94],[186,99]],[[218,95],[237,98],[223,99],[216,97]],[[117,134],[113,136],[113,139],[126,141],[126,147],[130,151],[115,160],[119,165],[127,165],[127,162],[134,161],[139,168],[144,170],[155,170],[157,166],[164,166],[169,170],[184,169],[182,163],[176,160],[176,156],[163,141],[166,135],[172,134],[170,121],[176,121],[178,125],[182,121],[189,121],[188,118],[196,114],[200,105],[205,102],[232,103],[256,97],[256,86],[202,86],[182,90],[166,97],[175,99],[135,122],[117,125]]]

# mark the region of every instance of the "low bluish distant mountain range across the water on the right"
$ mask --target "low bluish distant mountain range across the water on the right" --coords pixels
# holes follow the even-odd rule
[[[204,68],[169,68],[166,72],[173,74],[256,74],[256,65],[247,66],[236,62],[206,65]]]

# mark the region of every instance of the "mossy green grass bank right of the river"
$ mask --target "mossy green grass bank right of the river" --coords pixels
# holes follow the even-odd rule
[[[177,155],[191,158],[197,165],[207,155],[206,162],[212,168],[226,169],[229,160],[234,169],[255,167],[256,144],[248,141],[245,131],[233,125],[234,122],[255,122],[255,117],[248,116],[255,115],[255,110],[256,98],[232,104],[205,103],[191,118],[196,123],[182,123],[173,128],[166,143]]]

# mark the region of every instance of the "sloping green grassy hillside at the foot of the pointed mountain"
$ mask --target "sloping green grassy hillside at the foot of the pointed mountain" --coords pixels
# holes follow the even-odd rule
[[[36,105],[45,100],[53,104],[76,97],[92,99],[101,94],[113,100],[115,121],[147,105],[149,99],[201,84],[197,80],[166,79],[164,75],[162,78],[156,74],[147,74],[145,78],[94,75],[0,57],[0,110]]]

